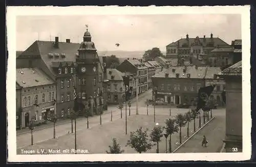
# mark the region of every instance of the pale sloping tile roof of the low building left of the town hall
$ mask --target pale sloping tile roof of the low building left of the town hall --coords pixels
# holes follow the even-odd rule
[[[16,82],[22,87],[54,84],[54,81],[39,68],[17,68]]]

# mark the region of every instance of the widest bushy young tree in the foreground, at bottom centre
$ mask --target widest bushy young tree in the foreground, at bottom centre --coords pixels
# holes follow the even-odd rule
[[[148,129],[145,131],[142,130],[142,127],[136,131],[131,132],[130,139],[127,141],[127,145],[131,148],[134,148],[138,153],[146,152],[154,146],[147,135]]]

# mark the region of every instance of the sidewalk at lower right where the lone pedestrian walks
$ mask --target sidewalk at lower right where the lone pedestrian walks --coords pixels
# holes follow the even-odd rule
[[[225,117],[216,116],[209,124],[191,137],[175,153],[218,153],[223,146],[222,139],[225,137]],[[208,140],[208,147],[202,147],[203,135]]]

